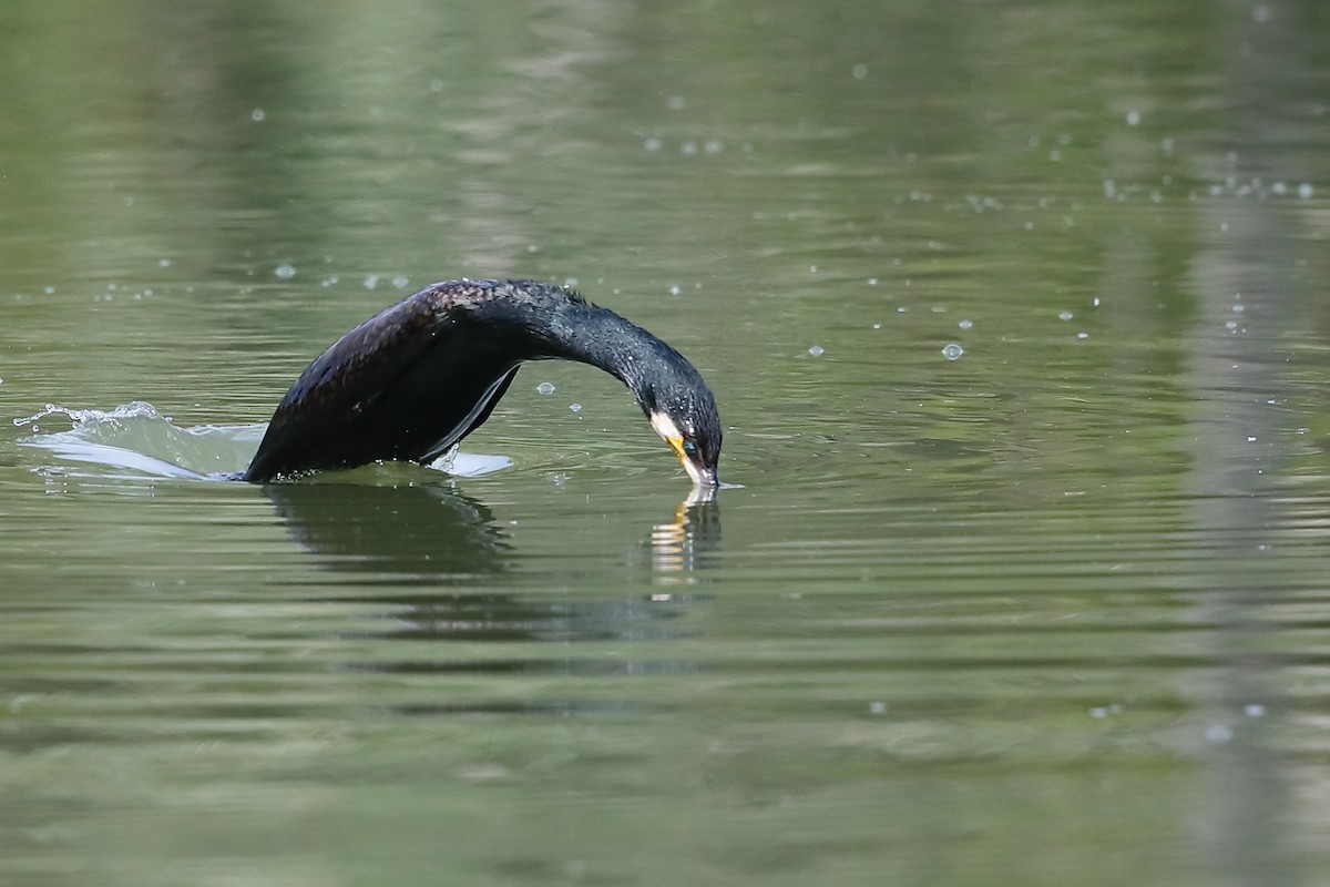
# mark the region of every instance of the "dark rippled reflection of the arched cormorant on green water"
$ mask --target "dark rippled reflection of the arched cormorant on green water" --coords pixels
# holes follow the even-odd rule
[[[500,577],[515,561],[515,545],[487,505],[455,487],[299,483],[269,484],[265,492],[321,568],[363,577],[356,584],[363,593],[346,588],[335,597],[386,608],[388,618],[375,624],[375,637],[608,641],[661,640],[681,630],[673,628],[678,610],[662,606],[684,600],[677,593],[606,598],[597,592],[577,600],[496,589],[496,581],[508,584]],[[672,521],[650,528],[644,545],[650,576],[644,584],[696,582],[694,573],[713,563],[720,539],[714,499],[689,497]]]

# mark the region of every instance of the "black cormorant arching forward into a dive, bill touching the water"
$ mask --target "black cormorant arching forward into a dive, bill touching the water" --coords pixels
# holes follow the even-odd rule
[[[684,355],[572,290],[468,279],[420,290],[319,355],[241,477],[434,461],[489,418],[527,360],[579,360],[616,376],[694,485],[718,485],[720,414]]]

